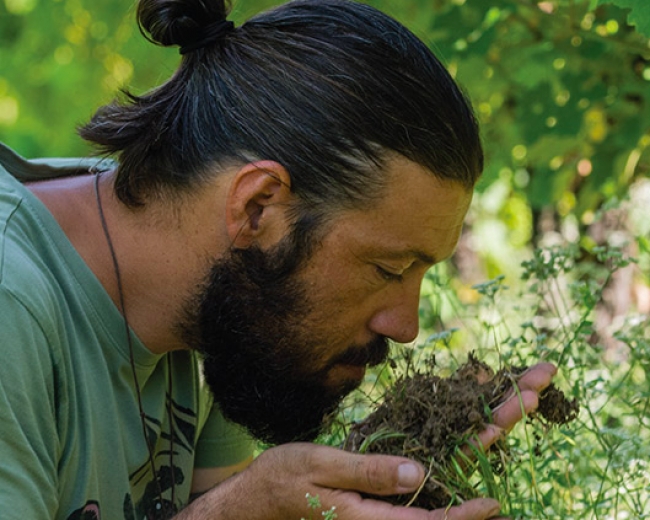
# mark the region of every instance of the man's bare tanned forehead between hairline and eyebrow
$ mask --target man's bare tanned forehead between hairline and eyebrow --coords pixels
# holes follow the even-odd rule
[[[456,247],[472,194],[405,158],[387,164],[384,195],[335,219],[332,238],[365,254],[439,262]]]

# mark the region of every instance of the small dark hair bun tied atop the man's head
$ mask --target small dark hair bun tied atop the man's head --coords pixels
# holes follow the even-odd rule
[[[214,34],[219,24],[229,24],[229,12],[225,0],[139,0],[137,20],[140,32],[152,43],[189,49],[206,34]]]

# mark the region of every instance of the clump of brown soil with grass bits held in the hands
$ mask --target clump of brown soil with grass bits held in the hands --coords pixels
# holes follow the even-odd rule
[[[511,367],[495,373],[470,355],[451,377],[433,375],[432,370],[404,377],[372,414],[352,426],[343,448],[406,456],[430,469],[415,495],[385,498],[394,504],[436,509],[474,498],[474,487],[458,478],[450,461],[458,446],[491,422],[491,411],[511,395],[513,382],[525,370]],[[565,424],[577,414],[577,401],[569,401],[551,384],[540,395],[539,408],[531,418]],[[489,460],[498,465],[501,459],[495,454]]]

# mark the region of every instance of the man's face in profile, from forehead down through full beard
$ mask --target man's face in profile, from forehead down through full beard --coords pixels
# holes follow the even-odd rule
[[[453,252],[471,194],[405,159],[387,174],[385,197],[338,213],[313,251],[292,236],[231,251],[188,305],[215,400],[260,439],[312,439],[388,339],[417,336],[422,278]]]

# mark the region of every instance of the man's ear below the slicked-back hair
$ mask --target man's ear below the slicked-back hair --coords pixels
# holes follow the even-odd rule
[[[226,200],[226,226],[232,247],[268,247],[288,230],[287,209],[295,195],[291,177],[275,161],[246,164],[233,177]]]

